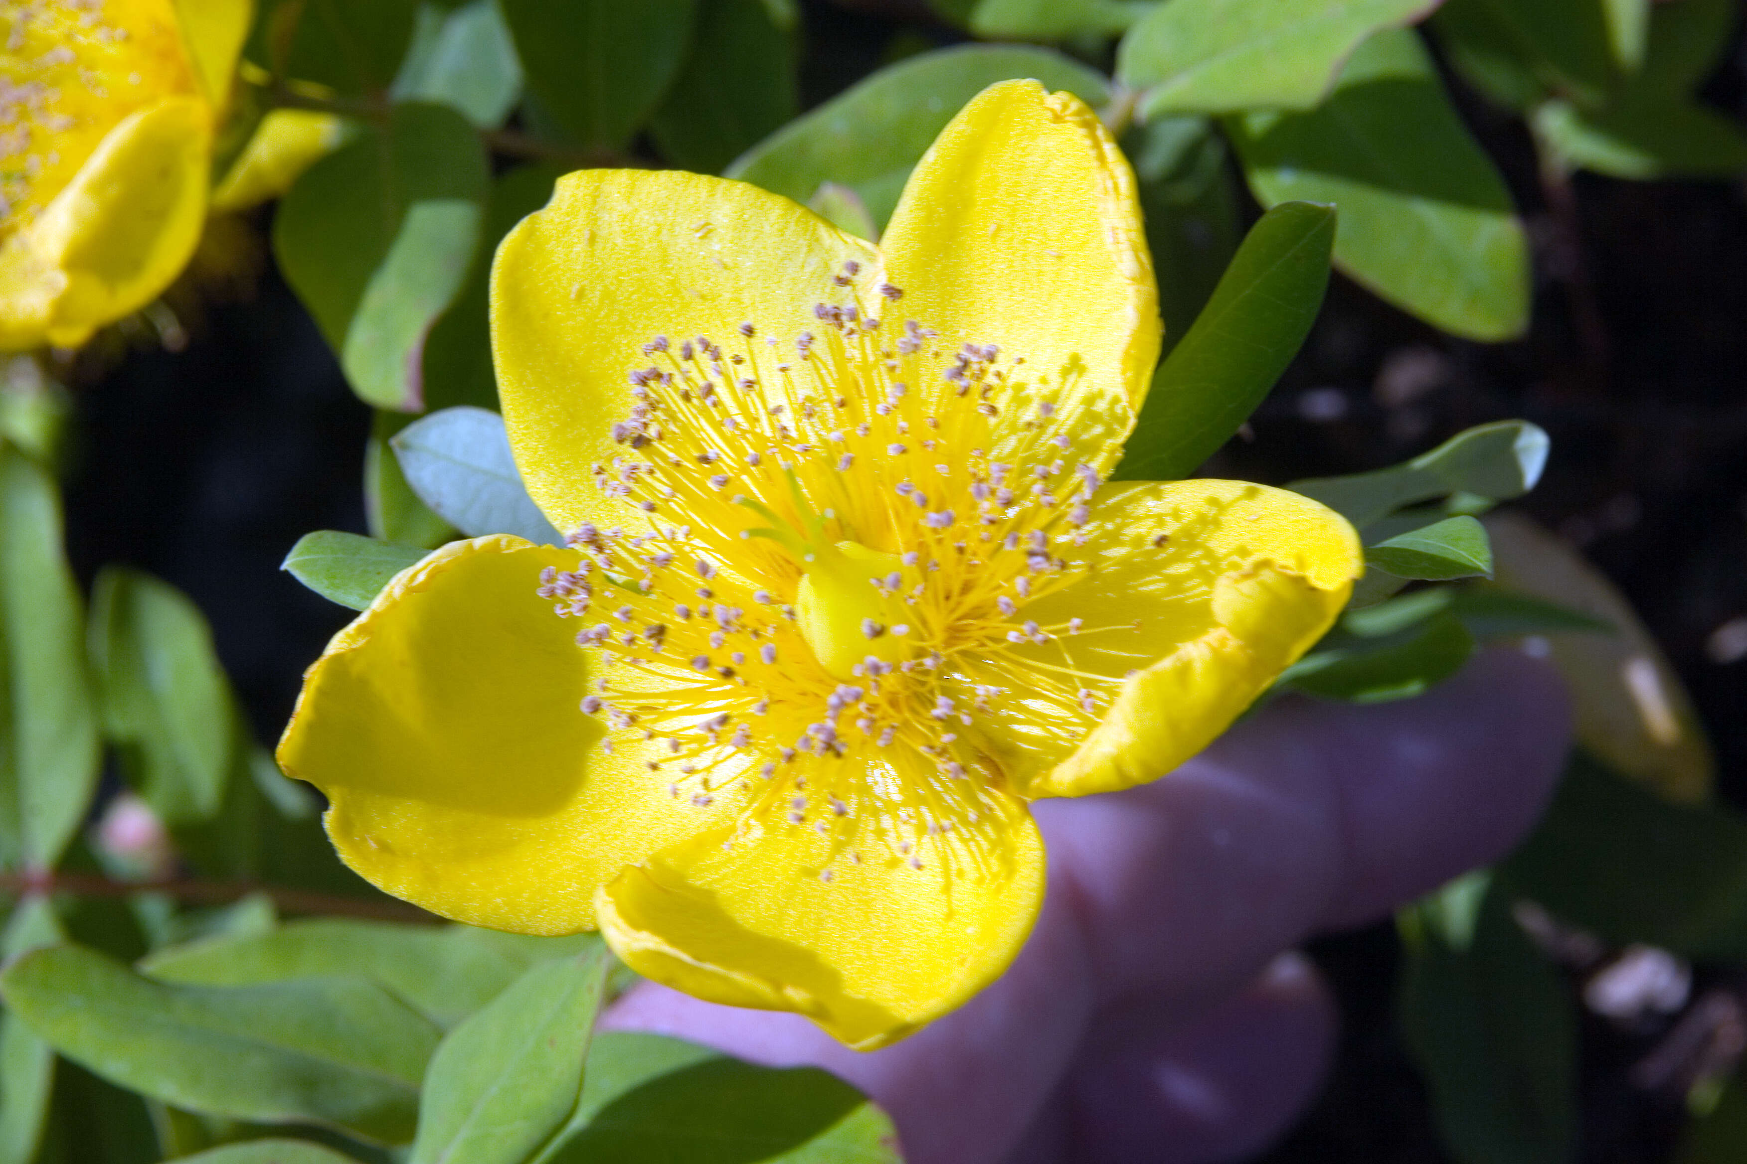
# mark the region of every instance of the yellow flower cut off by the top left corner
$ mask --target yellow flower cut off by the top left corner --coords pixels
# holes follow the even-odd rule
[[[248,0],[0,0],[0,351],[82,344],[189,262],[248,21]],[[245,150],[257,171],[307,147],[309,115],[285,117]]]

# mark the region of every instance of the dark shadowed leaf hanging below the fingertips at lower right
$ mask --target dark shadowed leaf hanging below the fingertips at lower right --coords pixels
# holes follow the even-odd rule
[[[1440,900],[1452,895],[1466,900]],[[1452,916],[1464,914],[1467,941],[1450,941]],[[1516,925],[1501,885],[1487,887],[1485,874],[1462,878],[1405,909],[1401,930],[1401,1031],[1431,1084],[1450,1155],[1460,1164],[1569,1161],[1578,1134],[1576,1005]]]

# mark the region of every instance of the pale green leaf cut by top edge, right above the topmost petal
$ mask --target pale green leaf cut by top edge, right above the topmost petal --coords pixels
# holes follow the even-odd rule
[[[1116,77],[1141,117],[1309,110],[1371,33],[1422,19],[1436,0],[1172,0],[1129,30]]]

